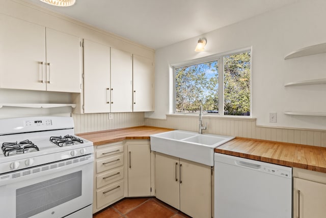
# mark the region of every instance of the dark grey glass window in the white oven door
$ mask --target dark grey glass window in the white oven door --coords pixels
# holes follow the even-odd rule
[[[16,190],[16,218],[30,217],[82,196],[82,171]]]

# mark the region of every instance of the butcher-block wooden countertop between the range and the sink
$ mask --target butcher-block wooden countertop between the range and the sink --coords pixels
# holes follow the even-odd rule
[[[172,131],[173,129],[158,128],[158,127],[130,127],[124,129],[105,130],[99,132],[80,133],[78,136],[92,141],[94,146],[102,144],[123,141],[125,139],[150,139],[150,135]]]

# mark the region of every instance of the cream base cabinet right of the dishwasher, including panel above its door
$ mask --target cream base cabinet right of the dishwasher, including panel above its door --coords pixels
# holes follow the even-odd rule
[[[293,218],[324,218],[326,174],[293,168]]]

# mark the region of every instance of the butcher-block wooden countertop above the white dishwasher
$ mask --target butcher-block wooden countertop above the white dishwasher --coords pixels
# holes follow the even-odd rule
[[[326,148],[322,147],[236,137],[214,151],[326,173]]]

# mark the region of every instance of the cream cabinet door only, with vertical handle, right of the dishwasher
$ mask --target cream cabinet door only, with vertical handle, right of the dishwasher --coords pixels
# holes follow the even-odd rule
[[[325,214],[326,184],[293,178],[293,217],[324,218]]]

